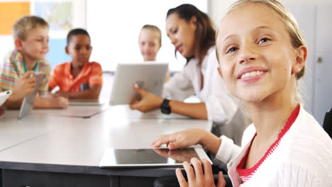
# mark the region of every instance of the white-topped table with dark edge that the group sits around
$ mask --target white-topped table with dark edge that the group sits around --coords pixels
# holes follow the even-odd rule
[[[84,107],[86,110],[98,107]],[[67,110],[71,110],[72,107]],[[157,136],[202,128],[211,122],[159,111],[142,114],[128,106],[101,106],[90,118],[61,110],[35,110],[23,120],[18,111],[0,119],[0,168],[4,186],[152,186],[174,169],[99,169],[104,149],[147,148]]]

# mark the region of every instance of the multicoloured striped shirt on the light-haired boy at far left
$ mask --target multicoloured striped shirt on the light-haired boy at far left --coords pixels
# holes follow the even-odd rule
[[[13,50],[4,59],[4,62],[0,64],[0,87],[3,90],[13,90],[16,81],[20,79],[26,71],[26,64],[21,52]],[[40,95],[44,95],[48,91],[48,79],[50,79],[50,63],[46,60],[38,60],[35,64],[35,73],[43,74],[44,77],[40,82],[38,89]]]

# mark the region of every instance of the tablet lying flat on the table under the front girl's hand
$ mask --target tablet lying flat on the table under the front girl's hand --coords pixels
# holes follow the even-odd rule
[[[182,166],[184,161],[190,163],[190,159],[211,160],[202,147],[188,147],[170,150],[167,148],[157,149],[106,149],[99,167],[122,168],[122,167],[160,167]]]

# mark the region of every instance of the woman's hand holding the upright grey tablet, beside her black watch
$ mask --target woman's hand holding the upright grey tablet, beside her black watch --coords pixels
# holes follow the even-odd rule
[[[163,98],[141,89],[138,84],[134,84],[134,89],[140,95],[140,98],[135,98],[129,105],[132,110],[137,109],[138,111],[146,113],[160,107]]]

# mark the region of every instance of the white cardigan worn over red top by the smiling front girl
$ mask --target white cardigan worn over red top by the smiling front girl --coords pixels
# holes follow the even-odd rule
[[[237,186],[332,186],[332,140],[321,125],[301,106],[299,115],[280,145],[241,184],[236,171],[255,135],[250,125],[243,134],[243,149],[228,137],[221,137],[216,158],[228,163],[228,175]]]

